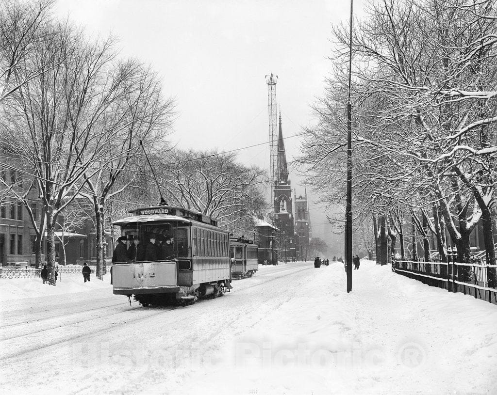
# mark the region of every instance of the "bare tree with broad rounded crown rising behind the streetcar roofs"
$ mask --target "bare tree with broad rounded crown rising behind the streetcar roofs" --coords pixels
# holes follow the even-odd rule
[[[217,218],[235,234],[253,230],[253,216],[266,208],[263,170],[237,163],[233,153],[175,150],[171,154],[161,176],[170,201]]]

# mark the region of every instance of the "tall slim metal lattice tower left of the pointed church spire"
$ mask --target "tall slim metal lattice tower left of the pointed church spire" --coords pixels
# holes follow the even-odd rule
[[[270,159],[270,177],[271,177],[271,214],[274,224],[274,185],[278,180],[278,129],[276,114],[276,79],[277,75],[266,75],[267,83],[267,108],[269,111],[269,159]]]

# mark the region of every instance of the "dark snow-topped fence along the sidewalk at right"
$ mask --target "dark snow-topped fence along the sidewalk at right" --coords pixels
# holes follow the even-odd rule
[[[497,305],[497,265],[393,261],[392,271],[424,284],[461,292]]]

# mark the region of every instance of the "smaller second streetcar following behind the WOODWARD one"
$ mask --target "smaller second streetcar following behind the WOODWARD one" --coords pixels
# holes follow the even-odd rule
[[[230,253],[232,278],[251,277],[258,270],[257,245],[252,240],[230,238]]]

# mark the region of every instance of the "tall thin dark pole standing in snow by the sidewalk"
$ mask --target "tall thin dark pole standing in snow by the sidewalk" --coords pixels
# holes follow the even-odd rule
[[[352,290],[352,102],[350,100],[352,78],[352,5],[353,0],[350,0],[350,41],[347,100],[347,207],[345,212],[345,261],[347,262],[347,293]]]

